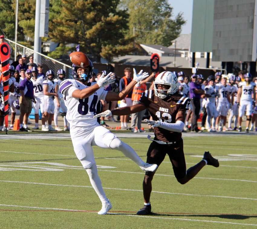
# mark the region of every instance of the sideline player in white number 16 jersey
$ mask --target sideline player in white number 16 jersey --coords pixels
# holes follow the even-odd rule
[[[216,84],[218,94],[216,127],[218,131],[225,130],[223,127],[226,125],[227,114],[229,108],[232,107],[230,100],[230,86],[227,85],[227,76],[222,75],[220,83]],[[225,127],[226,128],[226,127]]]

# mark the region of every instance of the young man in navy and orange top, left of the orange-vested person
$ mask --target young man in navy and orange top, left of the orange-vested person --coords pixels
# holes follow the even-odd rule
[[[125,68],[124,69],[124,74],[120,81],[119,81],[119,90],[123,91],[125,87],[132,81],[132,78],[130,77],[131,75],[131,68]],[[126,95],[126,97],[120,101],[120,107],[130,107],[132,106],[132,91],[129,92],[129,94]],[[120,124],[121,124],[121,129],[129,129],[128,127],[128,119],[129,115],[122,115],[120,116]]]

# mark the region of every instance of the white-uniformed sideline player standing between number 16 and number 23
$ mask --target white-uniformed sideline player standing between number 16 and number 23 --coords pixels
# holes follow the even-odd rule
[[[230,96],[231,96],[231,103],[232,108],[229,110],[229,119],[228,119],[228,130],[236,130],[237,129],[237,122],[238,122],[238,107],[237,107],[237,91],[238,87],[237,84],[240,81],[239,76],[231,75],[229,77],[229,85],[231,86]],[[235,116],[234,119],[234,129],[232,128],[232,119],[233,116]]]

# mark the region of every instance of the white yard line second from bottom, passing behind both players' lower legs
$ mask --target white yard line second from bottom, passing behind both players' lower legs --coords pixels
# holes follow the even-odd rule
[[[47,183],[35,183],[35,182],[24,182],[24,181],[11,181],[11,180],[0,180],[0,182],[9,182],[9,183],[24,183],[24,184],[37,184],[37,185],[49,185],[49,186],[65,186],[65,187],[81,187],[81,188],[93,188],[91,186],[82,186],[82,185],[64,185],[64,184],[47,184]],[[142,190],[137,189],[117,189],[117,188],[105,188],[104,189],[112,189],[112,190],[120,190],[120,191],[132,191],[132,192],[143,192]],[[257,200],[254,198],[246,198],[246,197],[233,197],[233,196],[213,196],[213,195],[197,195],[197,194],[187,194],[187,193],[174,193],[174,192],[159,192],[152,191],[155,193],[162,194],[171,194],[171,195],[184,195],[184,196],[207,196],[214,198],[229,198],[229,199],[245,199],[245,200]]]

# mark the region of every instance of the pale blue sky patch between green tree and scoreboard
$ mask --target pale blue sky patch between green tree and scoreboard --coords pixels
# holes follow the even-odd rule
[[[173,7],[173,15],[176,16],[179,12],[183,12],[184,19],[187,23],[182,27],[182,34],[191,33],[192,15],[193,15],[193,0],[168,0]]]

